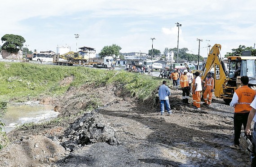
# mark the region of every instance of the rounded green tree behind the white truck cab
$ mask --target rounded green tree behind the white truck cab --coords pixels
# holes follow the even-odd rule
[[[100,57],[112,56],[117,57],[119,56],[119,52],[122,48],[117,44],[112,44],[111,46],[104,46],[99,53]]]

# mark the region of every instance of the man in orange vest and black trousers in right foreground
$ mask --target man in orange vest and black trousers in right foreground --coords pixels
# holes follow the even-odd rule
[[[241,87],[235,90],[232,101],[230,102],[230,106],[234,107],[234,145],[230,145],[231,149],[240,149],[239,137],[242,125],[245,131],[248,116],[252,109],[251,103],[256,96],[255,90],[247,86],[249,83],[247,76],[241,77],[241,83]]]

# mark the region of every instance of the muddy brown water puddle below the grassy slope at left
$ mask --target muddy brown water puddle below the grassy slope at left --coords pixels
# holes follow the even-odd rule
[[[53,105],[41,105],[39,101],[8,104],[6,113],[0,118],[4,123],[4,131],[10,132],[24,123],[39,123],[57,117]]]

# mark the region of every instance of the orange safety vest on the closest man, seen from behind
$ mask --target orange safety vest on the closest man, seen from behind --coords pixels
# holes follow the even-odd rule
[[[235,90],[238,96],[238,103],[235,105],[235,113],[248,113],[252,109],[250,104],[252,103],[256,92],[247,85],[244,85]]]

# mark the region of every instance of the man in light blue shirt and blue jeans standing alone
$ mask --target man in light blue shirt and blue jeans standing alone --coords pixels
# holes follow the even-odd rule
[[[171,92],[170,89],[166,86],[166,81],[163,81],[163,85],[159,87],[158,95],[159,95],[159,100],[161,103],[161,115],[164,113],[164,104],[166,105],[167,113],[172,114],[172,110],[170,107],[170,102],[169,102],[169,96]]]

